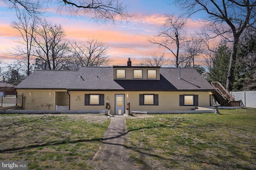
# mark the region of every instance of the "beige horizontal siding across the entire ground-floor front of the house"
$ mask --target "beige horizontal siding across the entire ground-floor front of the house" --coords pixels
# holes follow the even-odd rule
[[[50,94],[51,92],[51,94]],[[63,93],[60,93],[63,92]],[[55,110],[55,105],[62,103],[68,106],[69,98],[65,90],[19,90],[18,96],[24,95],[24,109]],[[85,94],[104,94],[104,106],[84,106]],[[110,102],[110,111],[115,112],[115,94],[124,94],[125,106],[130,102],[132,110],[136,111],[181,111],[191,110],[194,106],[179,106],[180,94],[197,94],[198,106],[210,106],[210,92],[70,92],[70,110],[104,110],[106,102]],[[139,106],[139,94],[158,94],[158,106]],[[59,98],[65,98],[61,102]],[[55,100],[56,99],[56,100]],[[57,105],[58,105],[57,104]]]

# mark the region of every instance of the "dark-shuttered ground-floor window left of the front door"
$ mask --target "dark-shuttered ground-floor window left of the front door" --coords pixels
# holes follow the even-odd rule
[[[84,106],[100,105],[104,106],[104,94],[85,94]]]

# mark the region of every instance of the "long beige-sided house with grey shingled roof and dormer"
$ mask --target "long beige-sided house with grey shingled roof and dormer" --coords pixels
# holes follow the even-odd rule
[[[81,67],[37,70],[16,87],[23,109],[104,110],[124,114],[127,102],[136,111],[183,111],[211,106],[214,88],[193,68],[158,66]]]

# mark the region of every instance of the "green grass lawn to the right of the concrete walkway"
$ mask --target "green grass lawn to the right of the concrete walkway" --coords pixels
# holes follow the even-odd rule
[[[256,109],[127,118],[130,159],[145,169],[256,169]]]

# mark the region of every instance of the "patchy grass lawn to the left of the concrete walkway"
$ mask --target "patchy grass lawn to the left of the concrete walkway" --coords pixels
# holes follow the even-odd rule
[[[104,115],[0,115],[0,160],[32,170],[92,169],[110,119]]]

